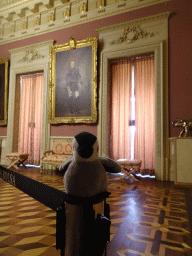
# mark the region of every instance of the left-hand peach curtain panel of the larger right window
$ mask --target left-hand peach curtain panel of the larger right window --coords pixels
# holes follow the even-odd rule
[[[132,62],[112,63],[111,156],[130,159],[130,95]]]

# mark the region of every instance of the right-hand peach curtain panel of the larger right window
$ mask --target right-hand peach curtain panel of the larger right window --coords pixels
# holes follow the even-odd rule
[[[155,62],[154,57],[136,59],[135,158],[142,160],[143,173],[155,169]]]

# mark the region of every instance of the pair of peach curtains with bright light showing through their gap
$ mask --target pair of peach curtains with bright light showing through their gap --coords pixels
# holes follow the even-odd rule
[[[111,157],[155,168],[154,56],[113,61]]]

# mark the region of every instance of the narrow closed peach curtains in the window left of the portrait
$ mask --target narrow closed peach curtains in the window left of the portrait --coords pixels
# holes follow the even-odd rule
[[[28,163],[40,164],[43,74],[23,76],[20,95],[18,150],[28,153]]]

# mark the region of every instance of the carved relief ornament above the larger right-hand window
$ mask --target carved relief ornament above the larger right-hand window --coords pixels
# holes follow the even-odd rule
[[[123,35],[120,36],[117,40],[113,40],[111,42],[112,45],[114,44],[121,44],[121,43],[133,43],[140,38],[147,38],[148,36],[154,36],[154,33],[149,33],[146,30],[142,29],[139,25],[128,27],[123,29]]]

